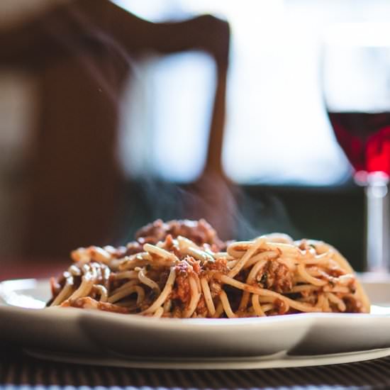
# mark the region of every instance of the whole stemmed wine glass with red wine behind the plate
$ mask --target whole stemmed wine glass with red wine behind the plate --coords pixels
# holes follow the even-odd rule
[[[367,271],[389,272],[390,25],[339,23],[325,33],[323,98],[338,143],[367,199]]]

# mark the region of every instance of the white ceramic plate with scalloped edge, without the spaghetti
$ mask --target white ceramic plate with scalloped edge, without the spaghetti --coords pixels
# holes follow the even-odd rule
[[[390,302],[390,282],[367,282]],[[375,294],[375,296],[373,296]],[[191,369],[293,367],[390,355],[390,307],[372,314],[305,313],[237,319],[158,319],[45,308],[47,280],[0,283],[0,345],[87,364]],[[390,305],[389,305],[390,306]]]

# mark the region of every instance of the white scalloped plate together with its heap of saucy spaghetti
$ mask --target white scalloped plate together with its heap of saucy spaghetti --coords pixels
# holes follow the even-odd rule
[[[138,367],[243,359],[277,367],[269,362],[281,353],[307,365],[304,356],[353,361],[390,348],[388,312],[370,313],[350,264],[318,240],[273,233],[225,243],[204,220],[157,220],[126,246],[80,247],[71,257],[50,281],[0,284],[9,319],[1,335]]]

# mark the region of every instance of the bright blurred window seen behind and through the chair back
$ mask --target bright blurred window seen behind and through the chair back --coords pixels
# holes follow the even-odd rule
[[[232,28],[223,165],[239,183],[334,185],[351,167],[321,97],[321,35],[337,22],[387,22],[387,0],[117,0],[152,21],[199,13]],[[145,169],[189,182],[204,164],[213,67],[204,55],[145,60],[123,104],[121,155],[133,176]],[[130,108],[137,92],[137,113]],[[146,108],[147,106],[147,108]],[[131,130],[129,130],[131,129]],[[138,131],[138,129],[143,131]]]

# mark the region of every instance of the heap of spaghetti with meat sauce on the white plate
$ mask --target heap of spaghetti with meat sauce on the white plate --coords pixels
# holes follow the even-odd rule
[[[286,235],[225,244],[206,221],[155,221],[127,247],[87,247],[52,278],[48,306],[176,318],[367,313],[340,253]]]

